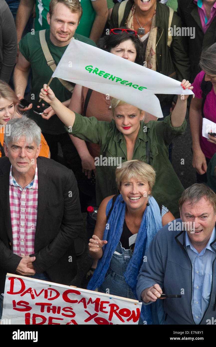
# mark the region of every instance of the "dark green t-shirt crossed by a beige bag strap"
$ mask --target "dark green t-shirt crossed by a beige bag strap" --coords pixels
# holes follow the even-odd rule
[[[55,64],[58,65],[67,46],[55,46],[50,40],[49,29],[47,29],[45,32],[45,38]],[[74,39],[96,46],[94,41],[76,33],[74,35]],[[44,133],[54,135],[65,133],[64,124],[56,115],[52,116],[49,120],[46,120],[43,119],[40,115],[37,115],[33,112],[33,110],[38,105],[41,88],[43,88],[44,83],[49,82],[53,74],[52,69],[46,64],[46,59],[44,57],[40,44],[39,31],[36,31],[35,35],[32,35],[31,33],[26,34],[19,42],[19,49],[24,58],[30,62],[33,74],[31,90],[31,102],[33,103],[33,106],[32,109],[29,110],[29,117],[37,122],[38,126]],[[71,98],[71,93],[61,84],[61,82],[56,77],[52,79],[50,88],[53,90],[55,96],[61,102]]]

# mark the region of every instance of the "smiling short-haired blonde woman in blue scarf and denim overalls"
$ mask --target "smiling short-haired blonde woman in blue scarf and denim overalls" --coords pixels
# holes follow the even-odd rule
[[[137,299],[137,276],[156,232],[174,219],[169,210],[151,196],[155,170],[139,160],[124,162],[116,169],[120,195],[105,198],[97,213],[89,254],[98,259],[88,289]],[[142,320],[150,324],[148,307]]]

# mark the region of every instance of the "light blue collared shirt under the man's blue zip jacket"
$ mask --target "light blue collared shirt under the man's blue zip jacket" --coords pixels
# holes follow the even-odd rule
[[[204,249],[200,253],[192,246],[188,233],[185,232],[185,245],[188,256],[192,264],[192,299],[191,310],[193,320],[199,324],[210,299],[211,280],[212,280],[212,264],[216,257],[215,250],[210,244],[215,240],[215,228]]]

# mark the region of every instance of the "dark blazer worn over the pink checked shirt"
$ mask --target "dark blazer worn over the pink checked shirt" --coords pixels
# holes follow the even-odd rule
[[[6,273],[15,273],[21,260],[12,252],[10,167],[7,157],[0,158],[0,294],[4,292]],[[53,282],[69,285],[77,272],[74,238],[83,225],[77,181],[71,170],[42,156],[37,158],[37,170],[33,265],[37,273],[46,271]]]

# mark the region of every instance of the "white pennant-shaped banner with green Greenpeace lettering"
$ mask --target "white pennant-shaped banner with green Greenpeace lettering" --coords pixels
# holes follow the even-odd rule
[[[163,115],[154,94],[193,94],[173,78],[78,40],[71,40],[52,77],[108,94],[159,118]]]

